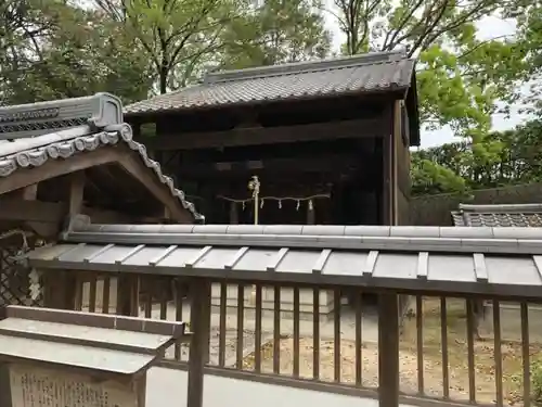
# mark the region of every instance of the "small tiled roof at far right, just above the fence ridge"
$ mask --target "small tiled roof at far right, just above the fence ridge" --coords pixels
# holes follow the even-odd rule
[[[542,204],[465,205],[452,212],[455,226],[542,227]]]

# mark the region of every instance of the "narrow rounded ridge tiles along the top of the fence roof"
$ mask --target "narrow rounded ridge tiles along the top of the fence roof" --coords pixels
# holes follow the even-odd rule
[[[291,246],[305,249],[363,249],[399,251],[439,251],[439,252],[499,252],[538,253],[542,246],[525,246],[519,242],[539,242],[542,228],[525,230],[521,228],[451,228],[412,226],[359,226],[349,233],[349,227],[304,226],[293,229],[288,226],[263,225],[92,225],[86,216],[79,216],[63,239],[80,243],[112,244],[160,244],[160,245],[240,245],[275,247]],[[455,231],[455,233],[450,233]],[[482,233],[480,233],[480,231]],[[519,249],[518,249],[519,247]]]

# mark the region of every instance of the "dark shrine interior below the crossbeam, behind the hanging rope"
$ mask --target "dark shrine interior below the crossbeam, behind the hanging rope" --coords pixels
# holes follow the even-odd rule
[[[178,177],[208,222],[254,222],[253,176],[260,181],[259,224],[382,222],[380,139],[195,150],[180,160]]]

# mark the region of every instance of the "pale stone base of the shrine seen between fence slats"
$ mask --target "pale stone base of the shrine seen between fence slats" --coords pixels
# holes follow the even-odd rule
[[[312,319],[313,308],[312,289],[299,289],[299,316],[301,319]],[[327,317],[333,311],[333,291],[320,290],[320,315]],[[237,285],[227,285],[227,308],[234,311],[237,308]],[[251,285],[244,288],[243,305],[245,310],[251,313],[256,309],[256,294]],[[211,287],[211,306],[214,311],[219,311],[220,307],[220,284]],[[262,314],[272,314],[274,311],[274,288],[262,287],[261,289],[261,308]],[[281,318],[294,317],[294,289],[281,289]]]

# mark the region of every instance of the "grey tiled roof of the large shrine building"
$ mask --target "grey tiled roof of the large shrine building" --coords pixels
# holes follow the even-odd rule
[[[125,113],[393,91],[410,87],[414,64],[392,51],[208,74],[201,85],[130,104]]]

